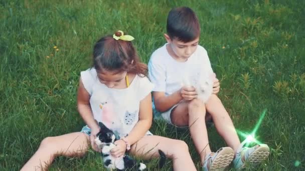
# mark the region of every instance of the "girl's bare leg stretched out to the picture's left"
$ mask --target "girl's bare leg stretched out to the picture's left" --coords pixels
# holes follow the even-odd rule
[[[83,132],[46,137],[21,170],[47,170],[56,156],[82,156],[89,144],[89,136]]]

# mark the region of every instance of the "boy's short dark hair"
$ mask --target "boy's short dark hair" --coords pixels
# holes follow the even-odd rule
[[[184,42],[199,37],[200,25],[195,12],[189,7],[172,8],[167,19],[167,32],[171,39]]]

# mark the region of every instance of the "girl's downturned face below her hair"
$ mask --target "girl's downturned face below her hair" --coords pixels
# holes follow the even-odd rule
[[[126,88],[126,77],[127,72],[107,71],[97,72],[97,77],[102,84],[105,84],[108,88]]]

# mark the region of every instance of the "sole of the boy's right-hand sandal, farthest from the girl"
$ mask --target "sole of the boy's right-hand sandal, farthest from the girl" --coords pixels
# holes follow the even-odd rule
[[[267,145],[261,145],[255,149],[255,151],[249,156],[248,162],[256,165],[266,159],[269,156],[269,147]]]

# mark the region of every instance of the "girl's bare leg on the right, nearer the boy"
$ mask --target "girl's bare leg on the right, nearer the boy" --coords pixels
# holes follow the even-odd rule
[[[151,157],[160,156],[159,149],[167,157],[173,159],[173,168],[175,171],[196,170],[188,145],[182,140],[157,135],[146,135],[131,146],[130,152],[143,159],[150,159]]]

